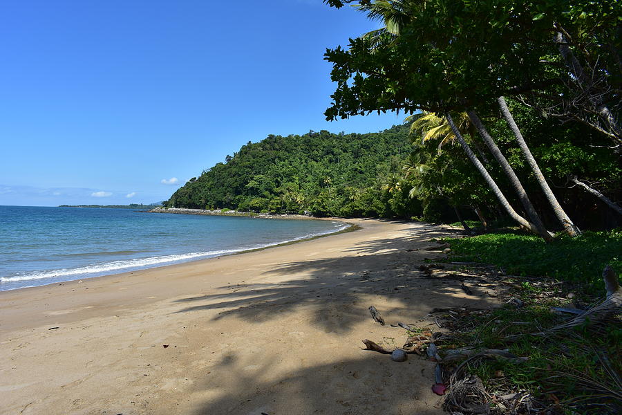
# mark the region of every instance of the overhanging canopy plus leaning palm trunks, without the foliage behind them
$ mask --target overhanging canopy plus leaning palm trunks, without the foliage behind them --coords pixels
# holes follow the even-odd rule
[[[340,8],[351,1],[326,0]],[[355,5],[384,24],[329,49],[337,90],[329,120],[371,111],[426,111],[450,129],[496,203],[521,228],[550,241],[521,178],[487,127],[501,118],[518,143],[547,205],[570,236],[580,233],[560,205],[507,104],[516,100],[536,116],[581,124],[606,139],[616,161],[622,154],[620,19],[618,1],[364,0]],[[466,114],[466,116],[463,116]],[[462,127],[453,118],[462,116]],[[422,130],[426,130],[425,124]],[[520,201],[520,210],[473,149],[474,131]],[[468,132],[471,142],[464,136]],[[594,145],[594,144],[590,144]],[[619,175],[614,178],[619,178]],[[576,176],[567,180],[614,201]],[[523,179],[524,181],[524,179]]]

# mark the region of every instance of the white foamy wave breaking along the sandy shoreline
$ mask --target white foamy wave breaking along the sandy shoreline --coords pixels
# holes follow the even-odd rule
[[[151,268],[153,266],[160,266],[162,264],[169,264],[172,262],[182,262],[189,261],[191,259],[200,259],[207,257],[216,257],[218,255],[227,255],[234,254],[236,252],[243,252],[245,250],[254,250],[261,248],[268,248],[270,246],[281,245],[282,243],[290,243],[294,241],[300,241],[301,239],[309,239],[313,237],[319,237],[326,234],[331,234],[334,232],[339,232],[340,230],[346,229],[348,225],[346,223],[335,222],[335,229],[328,230],[324,232],[315,232],[311,234],[306,234],[302,237],[296,237],[293,239],[288,239],[285,241],[276,241],[274,243],[268,243],[265,245],[256,245],[256,246],[246,246],[237,249],[228,249],[228,250],[214,250],[207,252],[190,252],[187,254],[176,254],[176,255],[164,255],[162,257],[149,257],[142,259],[127,259],[122,261],[110,261],[110,262],[101,262],[98,264],[92,264],[88,266],[82,266],[78,268],[62,268],[57,270],[44,270],[44,271],[35,271],[31,273],[23,273],[21,275],[14,275],[11,277],[0,277],[0,282],[20,282],[20,281],[28,281],[32,279],[47,279],[47,278],[63,278],[63,277],[71,277],[71,276],[88,276],[91,274],[100,274],[105,275],[106,273],[112,273],[113,271],[118,270],[127,270],[128,268],[134,269],[142,269],[142,268]],[[132,252],[132,251],[124,251],[124,252]],[[140,251],[136,251],[140,252]],[[119,253],[119,252],[114,252]],[[92,275],[95,276],[95,275]]]

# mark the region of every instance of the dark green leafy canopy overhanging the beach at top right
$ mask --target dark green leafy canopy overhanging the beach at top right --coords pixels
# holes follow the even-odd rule
[[[506,95],[594,124],[622,142],[615,125],[594,119],[599,104],[592,102],[613,107],[617,120],[619,1],[377,0],[357,7],[385,19],[387,30],[327,50],[337,82],[327,119],[390,110],[489,113]],[[560,53],[565,46],[569,58]],[[590,82],[579,82],[576,68]]]

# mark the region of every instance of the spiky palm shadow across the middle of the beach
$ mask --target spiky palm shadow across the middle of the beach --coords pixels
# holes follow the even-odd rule
[[[425,315],[435,307],[456,306],[455,295],[462,293],[461,279],[447,273],[431,277],[419,268],[426,258],[444,257],[422,248],[435,246],[430,239],[446,234],[428,226],[417,229],[416,234],[404,232],[399,237],[358,243],[347,249],[350,256],[280,264],[263,274],[265,283],[221,286],[218,290],[222,292],[215,295],[178,299],[193,305],[176,313],[220,310],[214,320],[235,316],[255,324],[307,308],[314,315],[315,326],[340,334],[350,331],[356,322],[370,319],[366,308],[374,305],[367,304],[373,298],[392,304],[381,310],[386,316]],[[283,280],[283,276],[291,279]],[[272,283],[270,277],[279,278]],[[459,299],[460,304],[485,302],[477,288],[473,291],[475,295]]]

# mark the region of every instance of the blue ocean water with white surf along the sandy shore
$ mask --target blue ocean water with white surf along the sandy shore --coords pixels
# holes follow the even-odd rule
[[[0,291],[217,257],[345,227],[338,221],[0,206]]]

